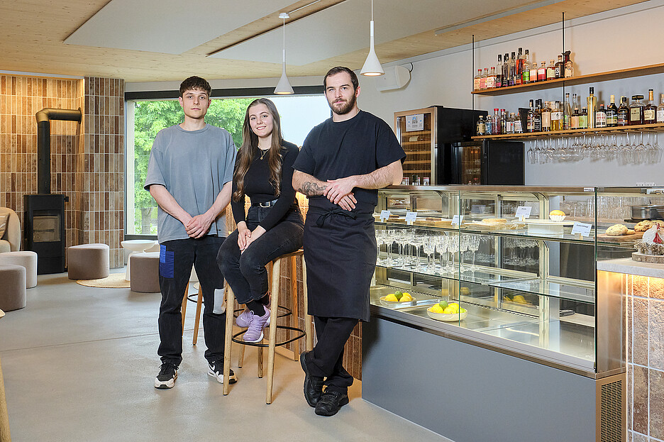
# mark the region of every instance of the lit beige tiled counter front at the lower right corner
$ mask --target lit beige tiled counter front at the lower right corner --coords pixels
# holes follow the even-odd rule
[[[626,276],[627,440],[664,441],[664,280]]]

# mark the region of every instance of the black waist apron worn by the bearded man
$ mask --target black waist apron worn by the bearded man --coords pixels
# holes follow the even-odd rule
[[[372,214],[310,206],[304,222],[308,313],[369,321],[377,253]]]

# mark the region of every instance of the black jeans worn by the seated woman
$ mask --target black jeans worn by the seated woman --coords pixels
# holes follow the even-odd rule
[[[253,231],[265,219],[271,207],[251,206],[247,227]],[[265,296],[268,289],[265,265],[275,258],[298,250],[302,246],[304,223],[298,209],[291,209],[276,226],[263,233],[240,253],[238,231],[223,241],[217,263],[239,304],[247,304]]]

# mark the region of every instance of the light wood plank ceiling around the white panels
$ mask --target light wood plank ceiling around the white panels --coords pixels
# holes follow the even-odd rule
[[[319,0],[313,4],[312,0],[294,1],[285,11],[302,9],[291,13],[291,18],[287,23],[327,9],[342,1],[344,0]],[[455,7],[455,5],[467,6],[467,1],[470,0],[445,1],[448,2],[448,6]],[[436,29],[413,33],[413,35],[377,45],[376,52],[381,62],[404,60],[408,57],[470,43],[473,34],[475,40],[479,41],[556,23],[560,21],[563,11],[566,19],[572,19],[642,1],[646,0],[563,0],[553,4],[543,2],[544,6],[536,9],[510,13],[507,16],[491,18],[482,23],[466,21],[467,26],[464,26],[464,23],[446,23],[441,18],[441,26],[436,29],[445,27],[450,28],[450,31],[439,33],[439,35],[435,35]],[[2,48],[0,70],[114,77],[125,79],[127,82],[179,80],[190,74],[199,74],[209,79],[267,78],[279,77],[281,74],[281,65],[276,63],[224,60],[206,56],[221,48],[235,45],[280,27],[282,20],[278,16],[282,11],[269,11],[269,6],[265,7],[265,16],[262,18],[179,55],[63,43],[67,36],[76,31],[107,3],[108,0],[13,0],[2,2],[0,4],[0,48]],[[265,4],[269,5],[270,2],[265,1]],[[482,0],[479,4],[482,4]],[[378,7],[378,2],[375,7]],[[201,13],[204,15],[204,11],[195,11],[193,7],[190,8],[182,11],[183,23],[187,23],[192,16],[200,16]],[[481,9],[477,8],[477,10]],[[482,15],[477,14],[474,18],[482,18]],[[343,20],[343,18],[340,19]],[[379,26],[386,26],[386,24],[377,23],[378,29],[380,29]],[[177,31],[180,30],[174,30],[174,32]],[[366,29],[363,30],[363,33],[368,33],[366,31]],[[363,36],[363,38],[368,40],[367,36]],[[321,41],[321,45],[323,44],[324,42]],[[297,48],[289,50],[297,50]],[[311,62],[309,65],[289,65],[288,74],[292,77],[322,75],[333,65],[346,65],[352,69],[359,69],[366,55],[367,48]]]

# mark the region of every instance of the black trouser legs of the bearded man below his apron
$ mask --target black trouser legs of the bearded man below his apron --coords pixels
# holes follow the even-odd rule
[[[318,342],[304,358],[306,368],[311,375],[325,377],[328,390],[348,393],[353,376],[343,368],[343,346],[358,319],[314,316],[314,324]]]

